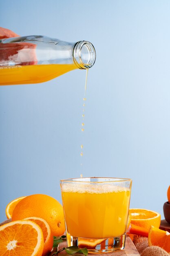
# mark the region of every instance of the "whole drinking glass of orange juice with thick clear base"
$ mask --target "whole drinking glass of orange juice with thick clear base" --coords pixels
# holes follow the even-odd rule
[[[132,181],[89,177],[60,184],[68,246],[95,254],[124,249]]]

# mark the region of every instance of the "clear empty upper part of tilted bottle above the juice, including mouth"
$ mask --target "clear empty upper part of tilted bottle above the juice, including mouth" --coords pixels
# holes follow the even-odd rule
[[[92,67],[96,58],[88,41],[69,43],[46,36],[4,38],[0,40],[0,55],[0,66],[74,63],[79,69]]]

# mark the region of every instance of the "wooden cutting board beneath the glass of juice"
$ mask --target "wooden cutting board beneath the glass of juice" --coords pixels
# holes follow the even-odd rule
[[[62,247],[67,247],[66,243],[62,243],[59,245],[59,248],[61,249]],[[68,256],[68,254],[66,254],[66,252],[62,251],[60,252],[58,255],[60,256]],[[83,254],[75,254],[75,255],[83,255]],[[88,254],[90,255],[90,254]],[[126,243],[125,243],[125,249],[121,250],[121,251],[117,251],[117,252],[111,252],[111,253],[107,253],[107,254],[91,254],[93,255],[97,255],[97,256],[140,256],[139,252],[137,251],[135,245],[133,244],[132,240],[130,239],[130,237],[126,237]]]

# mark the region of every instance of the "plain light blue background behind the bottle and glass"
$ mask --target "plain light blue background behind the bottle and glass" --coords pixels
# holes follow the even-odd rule
[[[89,40],[97,52],[84,134],[85,71],[0,87],[0,222],[7,203],[20,196],[45,193],[61,202],[60,179],[81,173],[131,178],[130,207],[163,219],[170,185],[170,1],[1,1],[0,26],[22,36]]]

